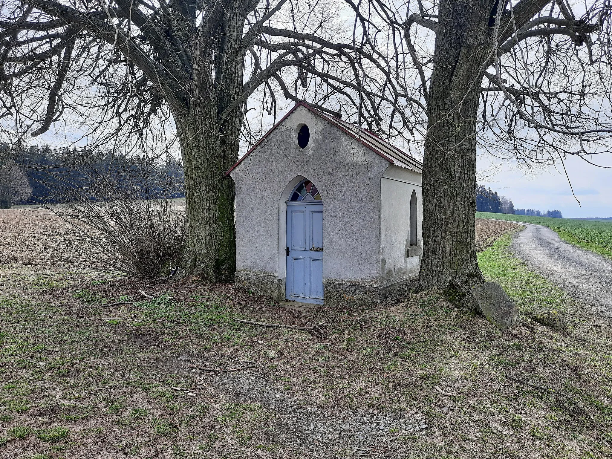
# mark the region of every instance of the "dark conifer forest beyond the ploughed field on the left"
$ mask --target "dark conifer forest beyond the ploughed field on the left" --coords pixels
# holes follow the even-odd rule
[[[0,159],[20,166],[32,187],[23,204],[67,203],[83,196],[106,200],[105,193],[130,193],[136,198],[184,197],[184,173],[172,157],[150,159],[117,151],[88,148],[15,148],[0,143]],[[111,191],[112,190],[112,191]]]

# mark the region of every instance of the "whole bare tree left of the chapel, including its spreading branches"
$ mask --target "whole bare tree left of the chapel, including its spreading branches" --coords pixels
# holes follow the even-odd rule
[[[235,271],[234,184],[246,103],[277,95],[377,132],[411,125],[399,67],[362,29],[317,0],[3,0],[0,92],[7,132],[80,121],[98,143],[176,132],[185,170],[185,275]],[[347,25],[348,24],[348,25]],[[72,129],[76,129],[73,125]],[[171,139],[162,145],[171,147]]]

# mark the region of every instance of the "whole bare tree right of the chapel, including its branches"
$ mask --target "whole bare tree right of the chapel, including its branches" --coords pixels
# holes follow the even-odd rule
[[[420,288],[483,282],[474,247],[476,149],[526,166],[610,152],[609,0],[374,0],[415,91],[424,138]],[[357,3],[355,3],[357,5]],[[372,27],[373,28],[373,27]],[[426,129],[422,129],[426,127]]]

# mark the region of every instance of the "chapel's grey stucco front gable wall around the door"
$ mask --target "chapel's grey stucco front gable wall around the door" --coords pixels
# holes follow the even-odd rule
[[[305,149],[296,144],[302,123],[310,129]],[[305,177],[323,198],[326,302],[343,290],[350,293],[353,285],[378,288],[380,177],[388,165],[298,107],[231,172],[236,182],[236,282],[284,297],[285,201]]]

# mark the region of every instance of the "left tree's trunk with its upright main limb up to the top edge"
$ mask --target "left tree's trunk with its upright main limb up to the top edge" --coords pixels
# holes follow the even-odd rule
[[[238,160],[243,106],[223,115],[242,92],[245,19],[250,1],[227,0],[207,39],[193,40],[193,83],[184,97],[174,99],[185,171],[187,244],[183,277],[234,282],[236,190],[225,172]],[[170,99],[170,98],[169,98]]]

